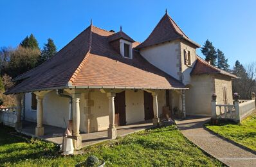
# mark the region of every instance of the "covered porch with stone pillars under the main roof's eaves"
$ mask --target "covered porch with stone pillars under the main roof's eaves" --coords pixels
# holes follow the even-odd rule
[[[173,116],[174,109],[186,116],[184,89],[55,89],[33,94],[36,110],[31,110],[24,94],[17,94],[17,130],[60,144],[64,128],[69,127],[77,137],[76,150],[157,126],[167,115]]]

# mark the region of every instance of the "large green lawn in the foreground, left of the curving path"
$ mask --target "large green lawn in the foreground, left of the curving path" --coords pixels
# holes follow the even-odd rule
[[[105,166],[223,166],[190,143],[176,127],[145,130],[84,148],[83,155],[62,157],[57,146],[13,136],[0,127],[0,166],[73,166],[88,155],[104,159]]]

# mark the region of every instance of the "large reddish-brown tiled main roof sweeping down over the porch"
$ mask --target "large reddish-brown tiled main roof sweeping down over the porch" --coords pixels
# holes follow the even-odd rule
[[[138,52],[133,60],[116,53],[109,44],[112,34],[89,26],[50,60],[15,78],[20,84],[6,94],[68,87],[186,89]]]

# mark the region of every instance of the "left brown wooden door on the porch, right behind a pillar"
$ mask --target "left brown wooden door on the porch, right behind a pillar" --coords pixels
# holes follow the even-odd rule
[[[125,91],[116,93],[114,97],[114,124],[126,125],[125,118]]]

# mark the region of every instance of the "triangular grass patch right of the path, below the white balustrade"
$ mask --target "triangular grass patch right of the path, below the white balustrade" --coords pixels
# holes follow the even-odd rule
[[[219,125],[206,125],[206,128],[256,151],[256,114],[248,117],[241,124],[221,122]]]

